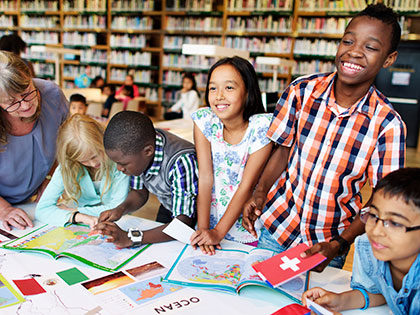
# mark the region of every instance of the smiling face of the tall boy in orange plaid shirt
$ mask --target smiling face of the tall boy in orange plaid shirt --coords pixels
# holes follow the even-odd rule
[[[389,53],[391,32],[392,27],[378,19],[367,16],[354,18],[337,49],[335,65],[338,81],[363,86],[367,91],[379,70],[389,67],[396,59],[396,52]]]

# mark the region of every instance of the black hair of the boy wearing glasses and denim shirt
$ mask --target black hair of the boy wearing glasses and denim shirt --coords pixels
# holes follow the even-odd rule
[[[420,212],[420,168],[400,168],[389,173],[373,189],[373,193],[377,192],[387,197],[401,198]]]

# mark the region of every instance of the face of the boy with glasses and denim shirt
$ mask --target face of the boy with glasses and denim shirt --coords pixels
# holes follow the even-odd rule
[[[379,219],[390,220],[394,226],[420,225],[420,209],[399,197],[384,195],[381,191],[374,194],[370,212]],[[399,269],[409,269],[420,253],[420,230],[405,232],[402,228],[397,232],[384,227],[381,220],[376,223],[371,220],[366,222],[366,234],[375,257],[389,261]]]

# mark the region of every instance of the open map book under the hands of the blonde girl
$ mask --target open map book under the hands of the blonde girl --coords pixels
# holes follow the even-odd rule
[[[105,239],[99,234],[92,235],[89,227],[85,225],[56,227],[46,224],[2,247],[42,252],[55,259],[66,256],[89,266],[113,272],[149,246],[120,249]]]

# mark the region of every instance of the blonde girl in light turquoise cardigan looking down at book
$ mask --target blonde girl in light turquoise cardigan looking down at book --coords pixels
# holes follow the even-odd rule
[[[103,131],[98,122],[80,114],[60,127],[59,166],[36,207],[37,220],[56,226],[71,222],[92,227],[102,211],[124,201],[129,177],[106,156]]]

